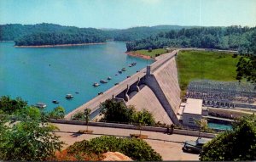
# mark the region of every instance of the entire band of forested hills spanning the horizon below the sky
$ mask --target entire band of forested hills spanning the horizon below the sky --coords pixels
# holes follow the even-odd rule
[[[178,25],[142,26],[124,30],[98,30],[54,24],[0,25],[0,41],[17,46],[124,41],[127,51],[170,47],[204,47],[244,50],[255,27],[198,27]]]

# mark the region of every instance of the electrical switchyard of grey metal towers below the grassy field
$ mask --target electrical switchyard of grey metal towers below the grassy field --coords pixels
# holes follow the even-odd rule
[[[256,87],[236,81],[190,81],[186,98],[203,100],[204,106],[215,108],[256,109]]]

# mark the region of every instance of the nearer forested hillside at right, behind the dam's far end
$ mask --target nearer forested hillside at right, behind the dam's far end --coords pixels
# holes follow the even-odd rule
[[[250,45],[250,37],[256,28],[229,27],[195,27],[179,31],[160,32],[156,36],[127,42],[127,51],[160,47],[203,47],[218,49],[245,50]]]

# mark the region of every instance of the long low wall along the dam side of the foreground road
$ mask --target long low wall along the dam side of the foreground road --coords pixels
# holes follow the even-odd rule
[[[60,124],[69,124],[69,125],[85,125],[85,121],[79,121],[79,120],[53,120],[51,119],[50,122],[52,123],[60,123]],[[116,123],[103,123],[103,122],[89,122],[89,126],[101,126],[101,127],[111,127],[111,128],[123,128],[123,129],[133,129],[138,130],[138,126],[134,125],[126,125],[126,124],[116,124]],[[167,128],[164,127],[156,127],[156,126],[142,126],[143,131],[157,131],[157,132],[166,132]],[[188,130],[173,130],[174,134],[180,134],[180,135],[187,135],[187,136],[195,136],[198,137],[199,135],[201,137],[207,137],[207,138],[213,138],[216,136],[216,134],[207,133],[207,132],[199,132],[199,131],[188,131]]]

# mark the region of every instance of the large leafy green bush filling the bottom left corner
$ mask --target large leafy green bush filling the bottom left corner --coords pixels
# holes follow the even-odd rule
[[[61,149],[63,142],[52,132],[55,127],[42,126],[37,120],[20,121],[1,131],[0,159],[46,160]]]

